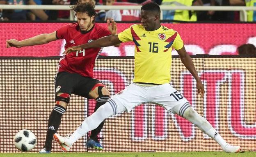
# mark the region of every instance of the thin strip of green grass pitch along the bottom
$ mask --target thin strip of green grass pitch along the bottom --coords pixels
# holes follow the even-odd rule
[[[256,157],[256,152],[0,153],[0,157]]]

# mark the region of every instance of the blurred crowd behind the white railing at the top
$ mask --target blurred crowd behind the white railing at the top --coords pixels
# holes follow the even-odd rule
[[[256,6],[256,0],[0,0],[9,5],[72,5],[94,2],[95,5],[143,5],[154,1],[169,6]],[[247,21],[256,21],[255,11],[247,11]],[[96,21],[139,21],[139,10],[98,10]],[[73,14],[67,10],[2,10],[0,20],[70,20]],[[178,21],[240,21],[239,11],[184,11],[165,10],[163,20]]]

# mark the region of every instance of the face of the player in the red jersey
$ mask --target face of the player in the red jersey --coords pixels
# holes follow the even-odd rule
[[[90,17],[87,13],[76,13],[76,18],[81,31],[89,31],[94,23],[94,17]]]

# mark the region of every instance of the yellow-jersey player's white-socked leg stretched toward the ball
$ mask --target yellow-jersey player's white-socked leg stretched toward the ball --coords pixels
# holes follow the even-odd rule
[[[95,113],[87,117],[69,138],[61,137],[57,134],[54,134],[54,136],[58,138],[55,140],[59,142],[62,149],[65,146],[68,146],[68,148],[65,149],[69,150],[73,143],[75,143],[90,130],[95,129],[99,124],[101,124],[101,122],[103,122],[104,119],[110,117],[111,115],[121,113],[123,111],[126,111],[126,108],[124,106],[117,106],[117,104],[115,104],[113,100],[110,100],[106,104],[100,106]]]

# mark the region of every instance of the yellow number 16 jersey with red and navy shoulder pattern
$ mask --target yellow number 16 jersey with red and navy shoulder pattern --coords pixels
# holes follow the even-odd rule
[[[134,24],[118,34],[121,42],[135,44],[135,69],[133,82],[165,84],[171,80],[172,47],[183,47],[178,32],[161,26],[155,31],[146,31],[141,24]]]

